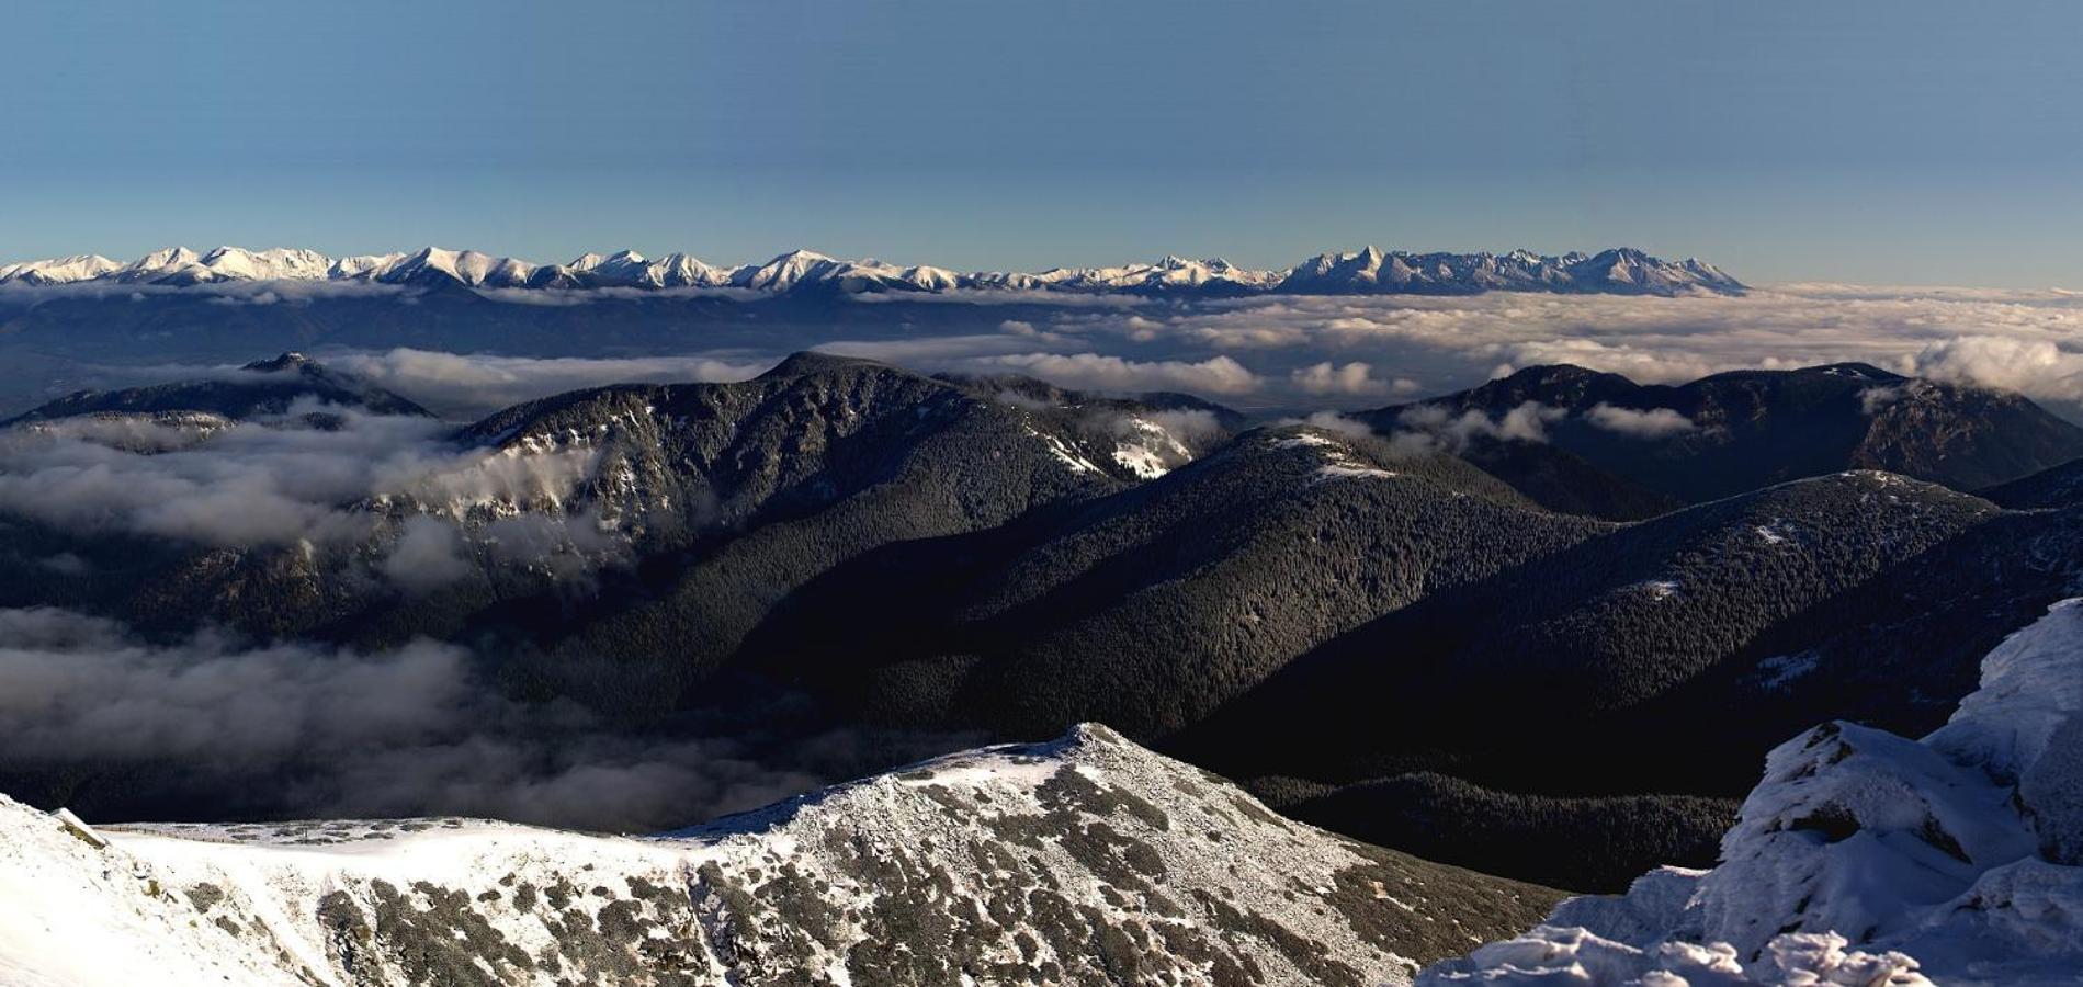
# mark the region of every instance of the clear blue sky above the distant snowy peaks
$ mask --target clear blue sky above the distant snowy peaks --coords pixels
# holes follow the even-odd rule
[[[92,2],[0,19],[0,258],[1641,246],[2083,287],[2075,2]]]

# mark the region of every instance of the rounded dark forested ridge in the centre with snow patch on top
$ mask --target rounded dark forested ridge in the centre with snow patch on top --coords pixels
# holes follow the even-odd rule
[[[1154,737],[1371,614],[1598,531],[1452,456],[1252,431],[1062,516],[844,566],[754,660],[908,723]]]

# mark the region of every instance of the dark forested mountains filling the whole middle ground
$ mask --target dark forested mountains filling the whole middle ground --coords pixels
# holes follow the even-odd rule
[[[2083,558],[2060,466],[2083,439],[2010,394],[1544,366],[1425,408],[1252,427],[1177,394],[800,354],[452,427],[285,356],[52,402],[0,435],[0,473],[79,441],[183,456],[192,483],[219,435],[331,456],[315,435],[415,421],[406,481],[302,504],[325,537],[250,543],[12,481],[0,606],[150,639],[450,641],[523,710],[652,739],[1104,720],[1362,839],[1612,887],[1704,862],[1791,731],[1929,729]],[[102,814],[225,795],[108,758],[0,754],[0,783]]]

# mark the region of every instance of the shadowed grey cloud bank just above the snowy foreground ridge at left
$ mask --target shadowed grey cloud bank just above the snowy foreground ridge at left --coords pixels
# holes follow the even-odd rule
[[[110,804],[160,812],[658,831],[975,741],[617,729],[562,700],[506,698],[450,643],[358,652],[219,631],[148,643],[52,608],[0,610],[0,770],[110,775],[133,789]]]

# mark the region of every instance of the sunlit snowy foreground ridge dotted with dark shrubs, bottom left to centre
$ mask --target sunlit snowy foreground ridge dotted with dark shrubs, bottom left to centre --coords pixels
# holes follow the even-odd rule
[[[1558,895],[1283,820],[1104,727],[664,837],[0,800],[0,983],[1408,983]]]

